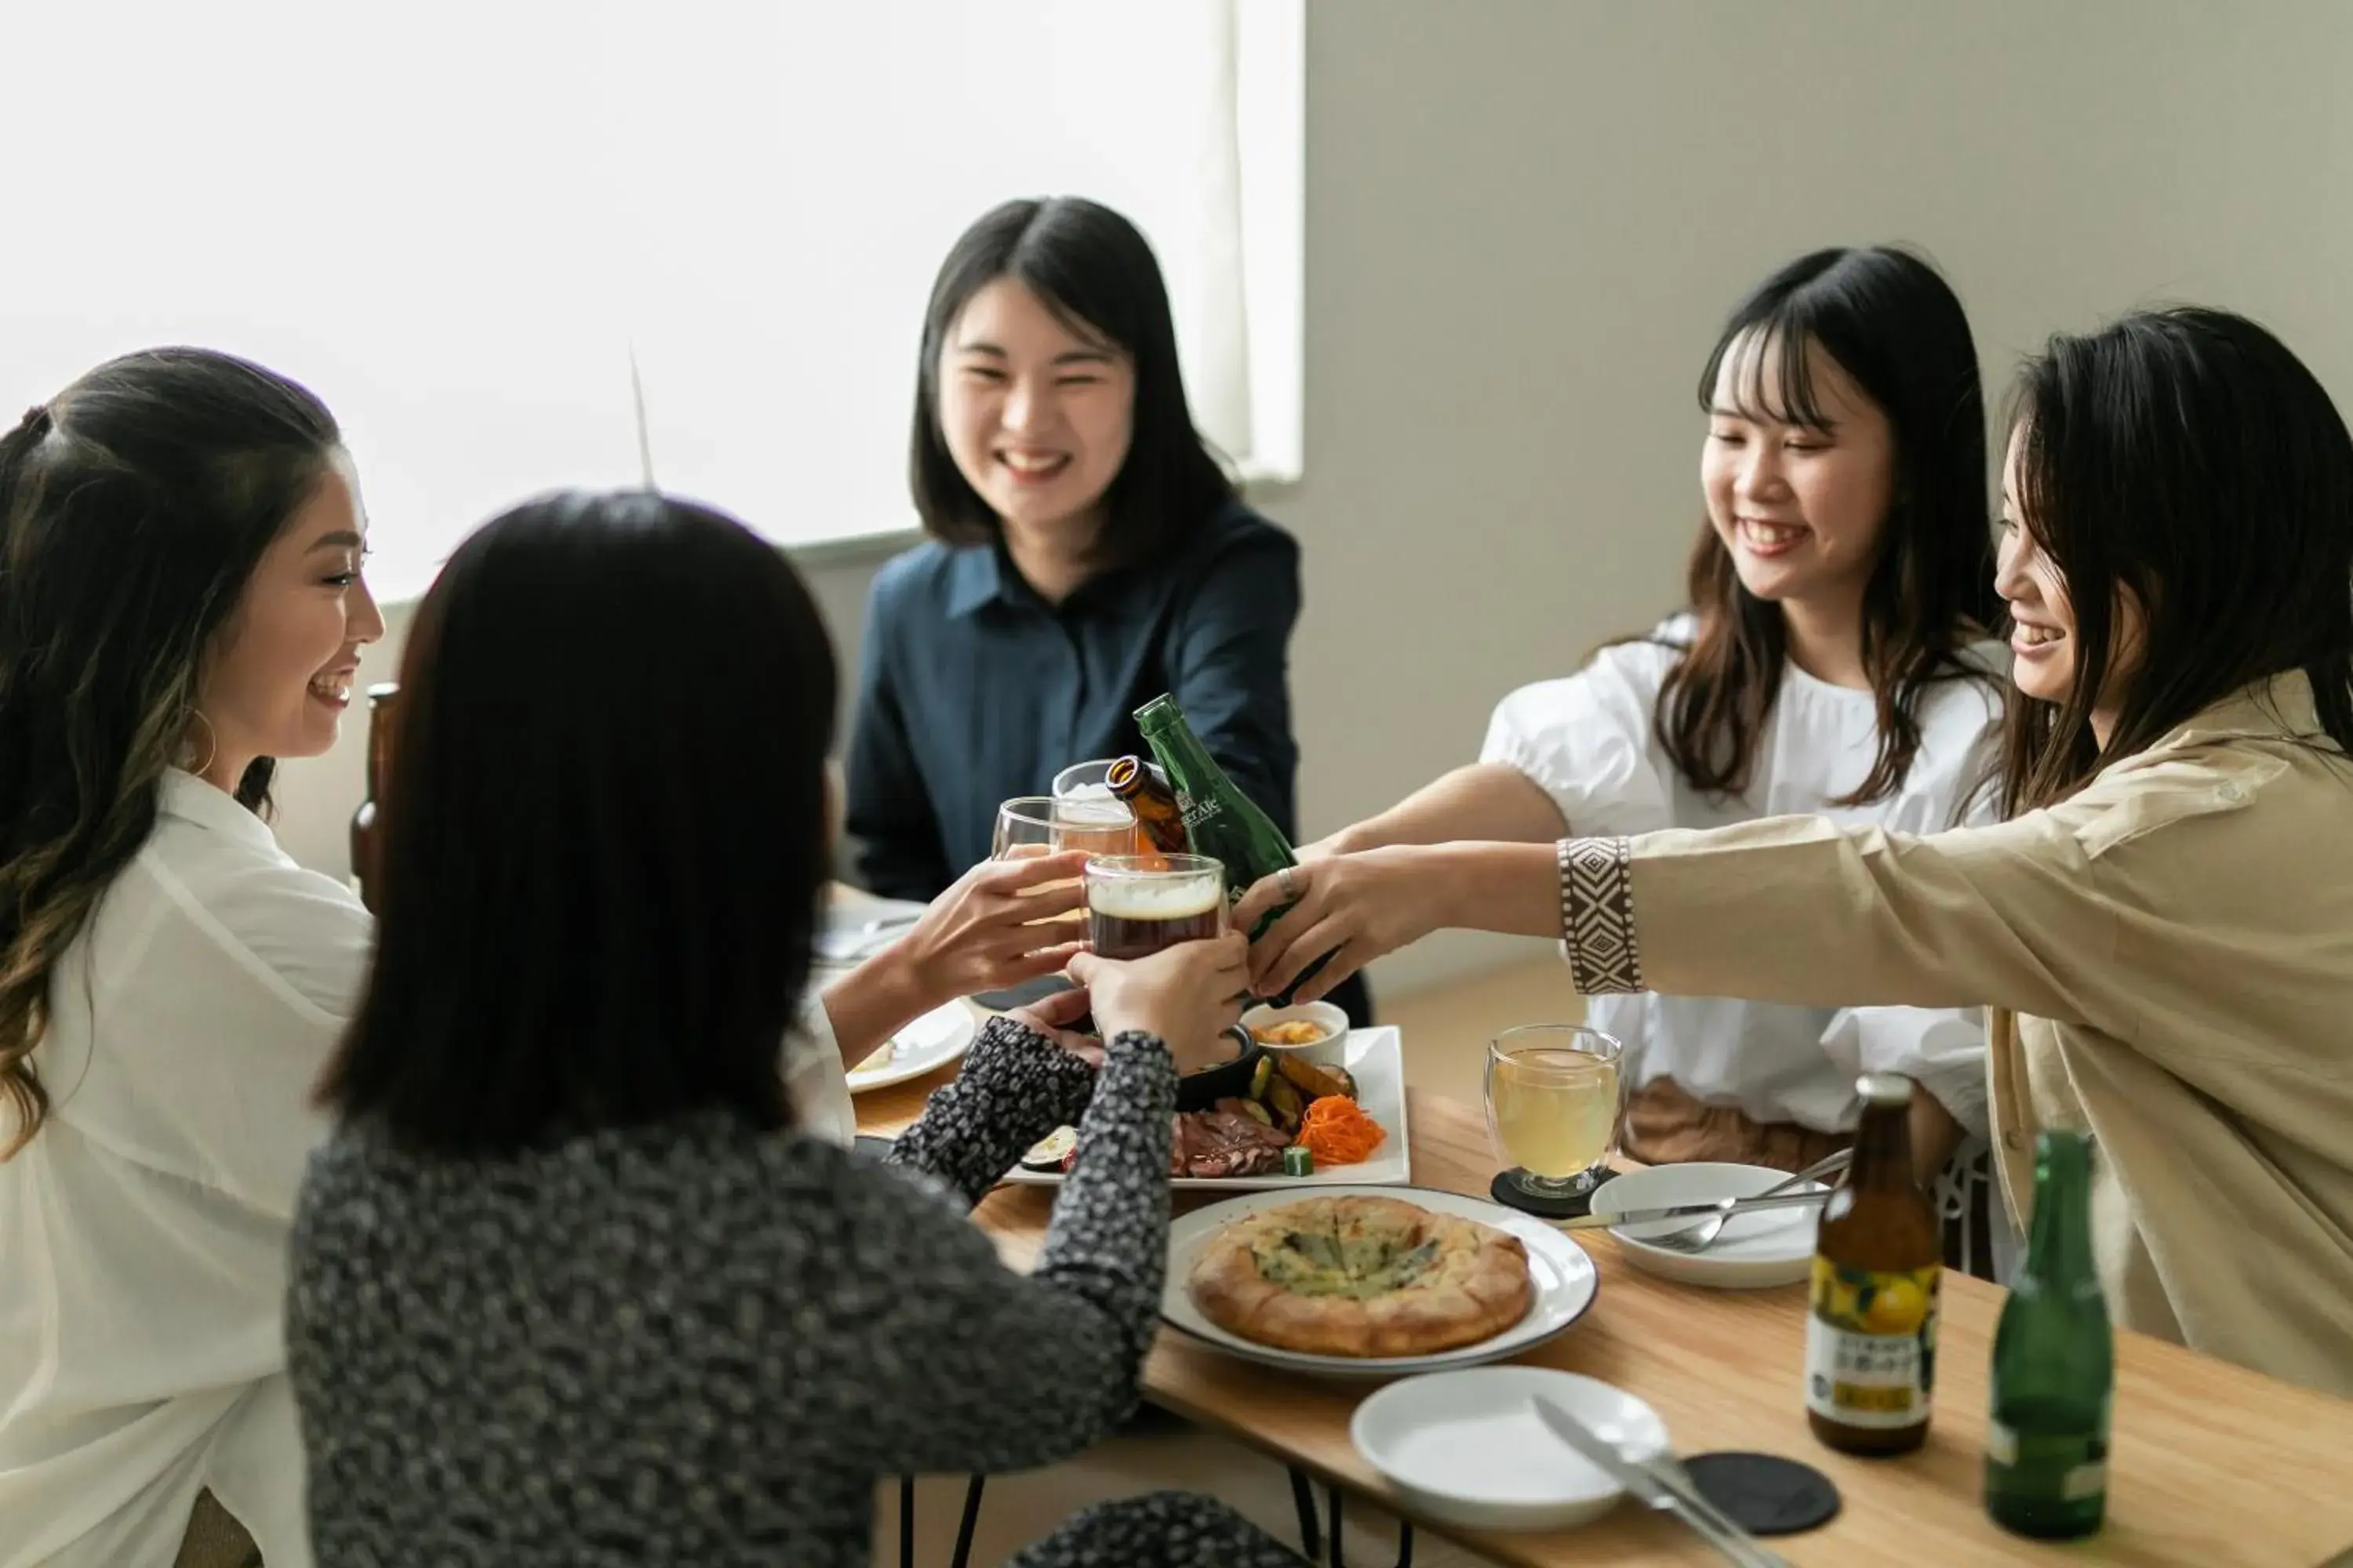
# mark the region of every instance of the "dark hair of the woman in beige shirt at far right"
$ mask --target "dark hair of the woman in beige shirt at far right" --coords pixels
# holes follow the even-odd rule
[[[2285,343],[2224,310],[2054,336],[2019,376],[2017,430],[2012,503],[2066,583],[2075,682],[2012,696],[2012,813],[2287,670],[2313,684],[2308,741],[2353,750],[2353,437]],[[2141,635],[2101,745],[2125,604]]]

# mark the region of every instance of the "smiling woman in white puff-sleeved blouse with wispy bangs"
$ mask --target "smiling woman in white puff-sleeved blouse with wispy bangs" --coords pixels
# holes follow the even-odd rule
[[[1734,310],[1699,402],[1692,611],[1513,691],[1475,766],[1311,860],[1786,811],[1934,832],[1991,809],[1986,428],[1960,301],[1901,252],[1802,256]],[[1986,1131],[1984,1025],[1967,1011],[1635,994],[1595,997],[1593,1023],[1628,1053],[1638,1159],[1798,1168],[1845,1140],[1864,1070],[1927,1088],[1925,1173]]]

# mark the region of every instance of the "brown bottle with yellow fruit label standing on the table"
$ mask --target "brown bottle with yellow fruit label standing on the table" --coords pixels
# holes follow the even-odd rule
[[[1913,1081],[1866,1072],[1854,1164],[1821,1208],[1805,1316],[1805,1420],[1840,1453],[1927,1441],[1937,1382],[1937,1208],[1911,1164]]]

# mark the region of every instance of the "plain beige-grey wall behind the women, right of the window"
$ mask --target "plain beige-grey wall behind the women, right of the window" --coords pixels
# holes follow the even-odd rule
[[[2353,409],[2348,186],[2337,0],[1313,5],[1306,480],[1266,498],[1308,562],[1306,830],[1675,602],[1694,381],[1777,263],[1922,244],[1995,386],[2134,303],[2245,310]],[[814,578],[854,637],[866,569]],[[287,769],[304,860],[341,865],[358,750]],[[1438,938],[1384,980],[1508,952]]]

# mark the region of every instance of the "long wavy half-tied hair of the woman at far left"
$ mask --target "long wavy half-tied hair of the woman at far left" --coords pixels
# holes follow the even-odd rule
[[[339,444],[308,390],[202,348],[108,360],[0,435],[0,1159],[47,1114],[49,976],[155,830],[205,656]],[[273,769],[238,780],[247,809]]]

